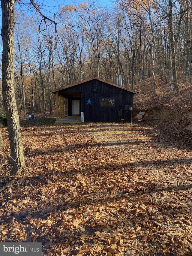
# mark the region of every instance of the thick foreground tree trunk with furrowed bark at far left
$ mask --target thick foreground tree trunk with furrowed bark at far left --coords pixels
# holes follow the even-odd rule
[[[11,175],[20,174],[25,166],[20,133],[19,116],[13,85],[14,72],[14,0],[1,0],[3,41],[2,51],[2,92],[7,116],[7,126],[10,141]]]

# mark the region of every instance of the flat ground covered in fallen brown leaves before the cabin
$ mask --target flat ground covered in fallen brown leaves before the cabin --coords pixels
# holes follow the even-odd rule
[[[50,256],[192,255],[192,152],[182,143],[156,123],[30,121],[20,177],[9,177],[1,128],[1,242],[42,242]]]

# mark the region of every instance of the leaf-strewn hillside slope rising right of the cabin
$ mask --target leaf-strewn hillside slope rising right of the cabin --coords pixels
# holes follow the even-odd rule
[[[143,111],[145,115],[140,123],[155,126],[158,140],[177,142],[178,147],[192,150],[192,86],[180,77],[179,91],[169,91],[169,84],[162,82],[160,77],[156,79],[158,96],[155,98],[151,79],[145,81],[145,95],[141,84],[135,86],[139,94],[134,96],[133,121],[138,122],[136,115]]]

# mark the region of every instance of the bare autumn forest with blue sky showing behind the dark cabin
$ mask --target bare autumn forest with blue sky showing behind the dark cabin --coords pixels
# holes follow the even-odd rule
[[[151,78],[154,97],[157,76],[170,84],[167,89],[179,89],[178,68],[191,84],[191,1],[63,5],[55,14],[56,30],[30,13],[32,6],[17,1],[15,8],[14,86],[20,115],[52,113],[52,89],[93,76],[118,83],[122,74],[123,86],[140,84],[142,94]]]

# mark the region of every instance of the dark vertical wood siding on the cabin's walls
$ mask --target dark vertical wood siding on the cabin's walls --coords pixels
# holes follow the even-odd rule
[[[66,92],[81,92],[80,109],[84,112],[85,122],[119,122],[122,118],[124,122],[131,122],[131,111],[125,111],[125,105],[133,107],[134,93],[128,92],[116,86],[101,82],[99,80],[91,80],[70,88],[66,88]],[[86,101],[90,98],[91,105]],[[101,107],[101,98],[114,98],[114,107]],[[72,115],[72,100],[69,98],[69,115]],[[70,111],[71,110],[71,111]],[[123,116],[118,117],[118,111],[123,111]]]

